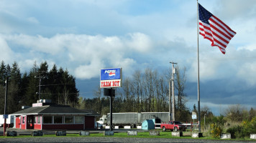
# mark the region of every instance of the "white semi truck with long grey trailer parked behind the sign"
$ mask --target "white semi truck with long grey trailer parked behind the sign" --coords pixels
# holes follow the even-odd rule
[[[168,122],[169,112],[124,112],[112,113],[112,124],[115,126],[132,126],[136,127],[142,124],[146,119],[155,119],[155,124]],[[110,124],[110,114],[103,115],[99,121],[100,124]]]

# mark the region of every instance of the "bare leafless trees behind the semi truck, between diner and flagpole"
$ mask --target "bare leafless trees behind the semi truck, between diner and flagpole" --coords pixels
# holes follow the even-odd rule
[[[186,107],[187,100],[184,92],[186,68],[179,69],[177,66],[176,69],[175,119],[188,121],[191,119],[191,112]],[[116,88],[113,112],[169,112],[170,71],[168,69],[159,73],[156,69],[137,70],[131,77],[124,78],[122,88]],[[81,97],[78,108],[93,109],[101,115],[109,113],[110,99],[104,97],[103,89],[98,87],[93,95],[93,99]]]

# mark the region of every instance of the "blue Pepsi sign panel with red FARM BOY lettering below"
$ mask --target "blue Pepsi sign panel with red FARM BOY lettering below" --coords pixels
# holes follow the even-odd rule
[[[101,69],[101,88],[121,87],[122,68]]]

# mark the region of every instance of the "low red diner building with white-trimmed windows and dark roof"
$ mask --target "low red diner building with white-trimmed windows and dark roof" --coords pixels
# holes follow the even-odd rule
[[[32,107],[15,112],[14,128],[17,129],[94,129],[92,110],[81,110],[65,105],[51,104],[47,100],[32,104]]]

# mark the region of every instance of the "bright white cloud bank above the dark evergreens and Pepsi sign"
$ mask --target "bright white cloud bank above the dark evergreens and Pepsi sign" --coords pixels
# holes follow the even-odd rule
[[[16,60],[22,61],[22,65],[32,65],[35,61],[55,61],[64,68],[70,67],[70,71],[79,79],[97,77],[99,69],[107,67],[130,69],[137,64],[134,57],[129,57],[132,53],[145,54],[152,49],[150,36],[139,32],[125,36],[56,34],[47,38],[40,35],[7,34],[2,37],[3,51],[10,53],[12,48],[19,47],[14,54],[29,55],[17,57]]]

